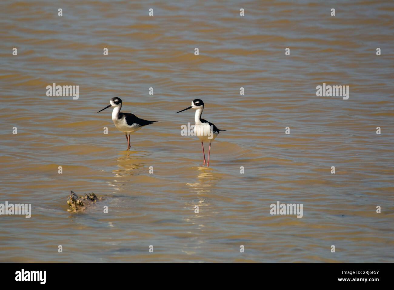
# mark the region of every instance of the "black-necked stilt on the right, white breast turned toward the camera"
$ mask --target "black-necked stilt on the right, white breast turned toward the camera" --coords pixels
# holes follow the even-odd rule
[[[204,153],[203,141],[209,141],[208,163],[206,164],[207,166],[209,166],[209,155],[211,152],[211,142],[217,137],[217,135],[219,135],[219,131],[226,131],[226,130],[217,129],[217,127],[214,124],[212,124],[211,122],[201,119],[201,114],[203,114],[203,110],[204,110],[204,102],[200,99],[193,100],[191,102],[190,107],[180,110],[179,112],[176,112],[176,114],[186,111],[186,110],[189,110],[191,108],[196,110],[196,114],[194,116],[194,121],[195,121],[194,133],[201,140],[201,146],[203,147],[204,164],[205,164],[205,153]]]

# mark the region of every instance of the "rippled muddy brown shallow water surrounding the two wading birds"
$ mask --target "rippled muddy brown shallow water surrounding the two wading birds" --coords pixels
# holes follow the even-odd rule
[[[0,261],[394,262],[393,2],[144,3],[3,1],[0,203],[33,212],[0,216]],[[47,97],[53,82],[79,99]],[[316,97],[323,82],[349,99]],[[112,97],[161,121],[130,152],[96,113]],[[196,98],[227,130],[209,168],[180,135],[194,111],[175,115]],[[104,200],[72,214],[70,190]]]

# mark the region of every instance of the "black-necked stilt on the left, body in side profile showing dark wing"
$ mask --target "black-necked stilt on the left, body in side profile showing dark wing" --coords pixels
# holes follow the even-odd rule
[[[130,133],[138,131],[142,126],[145,125],[160,123],[158,121],[148,121],[140,119],[136,115],[131,113],[121,113],[120,111],[122,108],[122,100],[117,97],[112,98],[110,100],[110,105],[108,105],[102,110],[105,110],[109,107],[113,107],[112,121],[115,124],[115,127],[126,135],[127,150],[129,150],[130,148]],[[101,112],[102,110],[99,110],[99,112]]]

